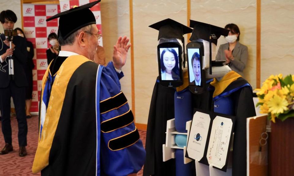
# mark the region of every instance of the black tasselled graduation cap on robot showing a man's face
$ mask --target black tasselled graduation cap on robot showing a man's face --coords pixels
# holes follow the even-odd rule
[[[190,28],[193,28],[190,41],[197,39],[209,41],[209,74],[211,75],[211,43],[217,45],[217,39],[220,38],[221,35],[228,36],[230,30],[194,20],[190,20]]]

